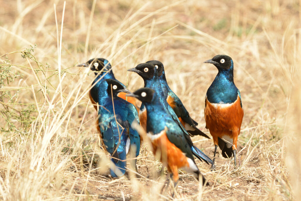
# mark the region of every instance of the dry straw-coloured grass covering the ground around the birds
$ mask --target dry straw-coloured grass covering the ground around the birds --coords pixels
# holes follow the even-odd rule
[[[234,171],[220,154],[216,172],[197,161],[213,184],[201,188],[180,172],[173,199],[300,199],[300,1],[77,0],[64,7],[58,0],[17,0],[2,2],[0,13],[2,199],[172,199],[171,187],[160,194],[165,178],[145,145],[141,178],[104,176],[108,160],[87,95],[94,74],[74,65],[107,58],[133,91],[143,82],[126,70],[160,60],[170,87],[204,129],[204,97],[217,70],[203,61],[216,54],[233,58],[242,96],[241,167]],[[213,157],[212,140],[193,141]]]

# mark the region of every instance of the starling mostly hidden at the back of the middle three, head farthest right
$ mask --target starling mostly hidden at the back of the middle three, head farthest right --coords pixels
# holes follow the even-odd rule
[[[175,111],[175,114],[183,124],[184,128],[188,131],[188,133],[191,134],[191,136],[200,135],[210,139],[209,136],[207,136],[204,132],[196,127],[198,123],[191,118],[189,112],[184,107],[180,98],[170,89],[166,81],[163,63],[157,60],[148,61],[146,63],[151,63],[157,68],[159,81],[164,93],[164,97],[166,98],[167,103]]]

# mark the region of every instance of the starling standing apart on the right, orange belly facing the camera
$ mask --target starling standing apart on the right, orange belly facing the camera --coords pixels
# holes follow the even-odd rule
[[[222,156],[234,156],[236,168],[237,137],[244,117],[240,91],[233,80],[233,60],[227,55],[216,55],[204,61],[212,63],[218,69],[214,81],[207,90],[205,98],[205,121],[215,145],[212,169],[217,146],[222,150]]]

